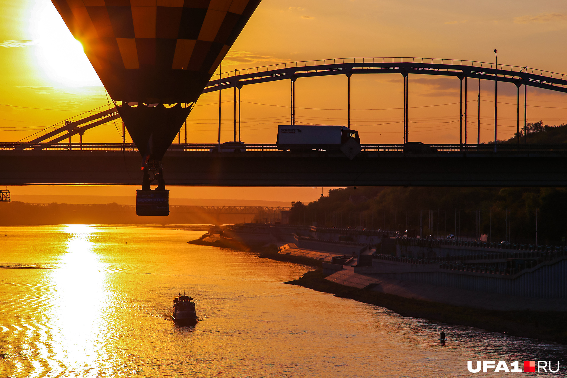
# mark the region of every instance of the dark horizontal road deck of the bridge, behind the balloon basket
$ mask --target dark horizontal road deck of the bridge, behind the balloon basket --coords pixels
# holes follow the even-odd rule
[[[368,148],[353,160],[338,151],[276,151],[271,146],[268,151],[219,153],[173,145],[163,159],[167,185],[567,186],[565,145],[499,145],[496,154],[491,145],[481,145],[486,150],[476,146],[476,151],[445,145],[441,150],[446,152],[435,154],[407,154],[390,145],[398,147]],[[0,185],[141,184],[141,156],[132,148],[68,147],[0,150]]]

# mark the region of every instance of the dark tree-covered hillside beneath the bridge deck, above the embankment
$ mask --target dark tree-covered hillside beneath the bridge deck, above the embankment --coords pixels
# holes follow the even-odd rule
[[[341,188],[308,205],[294,203],[290,220],[400,232],[420,230],[421,224],[422,236],[455,233],[479,239],[490,234],[492,241],[534,244],[536,209],[538,243],[565,244],[565,188]]]

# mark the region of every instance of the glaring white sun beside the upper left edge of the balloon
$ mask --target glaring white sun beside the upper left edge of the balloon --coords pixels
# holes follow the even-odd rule
[[[83,46],[73,38],[52,2],[33,3],[29,26],[37,62],[49,80],[67,87],[102,86]]]

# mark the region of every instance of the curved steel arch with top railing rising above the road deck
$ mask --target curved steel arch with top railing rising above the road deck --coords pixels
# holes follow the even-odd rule
[[[529,67],[496,65],[496,63],[435,59],[435,58],[338,58],[329,60],[278,63],[275,65],[255,67],[251,69],[229,71],[226,77],[210,80],[202,93],[215,92],[229,88],[242,88],[245,85],[273,82],[277,80],[296,80],[298,78],[319,77],[329,75],[354,74],[408,74],[455,76],[460,80],[475,78],[483,80],[498,80],[499,82],[543,88],[546,90],[567,93],[567,74],[537,70]],[[219,74],[215,75],[219,76]],[[105,108],[104,111],[99,109]],[[33,134],[24,138],[28,143],[47,143],[63,141],[75,134],[84,133],[87,129],[105,124],[120,118],[112,105],[95,111],[86,112],[50,126],[43,130],[44,134]],[[105,117],[105,118],[103,118]],[[58,125],[62,125],[58,127]],[[63,133],[63,134],[62,134]],[[22,139],[22,141],[24,141]],[[44,147],[35,147],[41,150]]]

